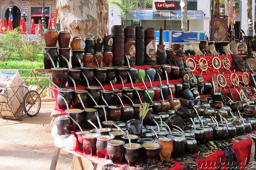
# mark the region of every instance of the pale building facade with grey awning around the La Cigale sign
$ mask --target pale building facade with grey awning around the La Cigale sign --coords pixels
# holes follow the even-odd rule
[[[215,1],[215,0],[214,0]],[[220,0],[224,4],[224,0]],[[240,29],[243,29],[247,35],[247,1],[244,0],[234,0],[236,2],[236,24],[235,31],[239,35]],[[149,3],[152,2],[152,3]],[[156,2],[171,2],[176,3],[177,6],[169,11],[169,19],[165,19],[167,10],[156,9]],[[165,30],[181,30],[181,18],[180,18],[180,0],[129,0],[132,8],[129,9],[127,17],[127,25],[133,26],[143,26],[143,27],[153,27],[159,30],[159,26],[165,26]],[[143,5],[144,4],[144,5]],[[255,13],[255,0],[252,0],[252,14]],[[144,10],[144,11],[143,11]],[[214,9],[215,11],[215,9]],[[144,13],[143,13],[144,12]],[[156,14],[154,14],[154,12]],[[176,13],[175,13],[176,12]],[[197,13],[202,16],[193,16],[191,14]],[[225,15],[224,8],[220,8],[222,15]],[[113,16],[112,16],[113,13]],[[132,13],[132,14],[131,14]],[[142,13],[142,14],[141,14]],[[153,14],[152,14],[153,13]],[[151,15],[152,18],[145,18],[145,16]],[[167,11],[168,15],[168,11]],[[174,17],[171,18],[171,15]],[[134,17],[134,18],[131,18]],[[144,18],[140,18],[144,16]],[[154,16],[156,16],[154,18]],[[256,13],[255,13],[256,16]],[[253,21],[255,16],[253,15]],[[137,17],[137,18],[136,18]],[[150,16],[151,17],[151,16]],[[158,18],[157,18],[158,17]],[[232,17],[232,16],[229,16]],[[168,18],[168,17],[167,17]],[[199,19],[198,19],[199,18]],[[109,33],[111,33],[111,26],[122,25],[122,19],[120,17],[120,10],[116,6],[109,5]],[[210,35],[210,25],[211,25],[211,0],[188,0],[188,31],[204,31],[206,35]],[[256,22],[255,22],[256,25]],[[237,37],[236,37],[237,38]]]

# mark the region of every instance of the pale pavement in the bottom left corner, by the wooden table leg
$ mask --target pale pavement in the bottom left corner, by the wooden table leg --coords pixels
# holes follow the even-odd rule
[[[15,140],[15,139],[14,139]],[[0,140],[0,169],[49,170],[52,162],[49,153]],[[59,156],[56,170],[70,170],[72,159]]]

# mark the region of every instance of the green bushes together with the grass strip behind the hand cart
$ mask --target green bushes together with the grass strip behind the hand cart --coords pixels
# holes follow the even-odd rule
[[[44,68],[44,40],[24,41],[26,35],[20,35],[18,28],[0,34],[0,68],[34,70]],[[29,71],[19,71],[21,77],[27,77]],[[49,74],[48,76],[50,76]],[[36,73],[37,77],[45,77]],[[31,74],[30,77],[35,77]],[[40,85],[49,86],[48,79],[38,79]],[[38,85],[36,79],[27,79],[26,85]]]

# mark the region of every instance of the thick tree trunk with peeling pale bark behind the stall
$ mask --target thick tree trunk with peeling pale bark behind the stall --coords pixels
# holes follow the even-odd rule
[[[105,0],[57,0],[61,31],[73,36],[92,37],[108,34]]]

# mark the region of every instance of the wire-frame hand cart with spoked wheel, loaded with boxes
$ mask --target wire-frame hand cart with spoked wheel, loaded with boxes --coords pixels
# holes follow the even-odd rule
[[[24,80],[20,76],[20,71],[28,72],[28,76]],[[0,69],[0,77],[2,79],[3,75],[7,75],[7,78],[5,81],[0,82],[1,118],[22,121],[26,115],[30,117],[36,116],[41,108],[40,95],[46,86],[40,85],[34,70]],[[26,80],[31,76],[36,79],[37,85],[25,84]]]

